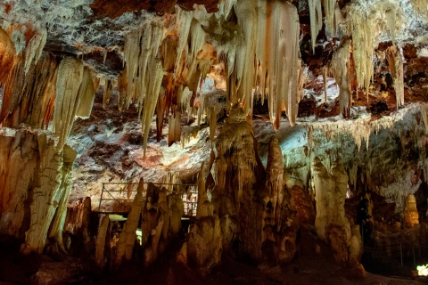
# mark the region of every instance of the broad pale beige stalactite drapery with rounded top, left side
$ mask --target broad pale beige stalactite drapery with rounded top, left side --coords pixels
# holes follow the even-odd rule
[[[94,98],[95,88],[91,71],[84,67],[82,61],[63,59],[58,69],[53,110],[53,132],[59,137],[59,150],[62,150],[70,135],[75,117],[78,114],[82,117],[89,116]]]

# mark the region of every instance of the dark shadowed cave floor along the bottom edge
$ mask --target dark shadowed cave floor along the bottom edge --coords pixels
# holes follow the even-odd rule
[[[91,261],[67,257],[54,261],[45,255],[22,256],[18,243],[0,240],[0,284],[168,284],[168,285],[291,285],[291,284],[423,284],[426,281],[366,273],[355,277],[323,256],[300,256],[290,265],[257,268],[224,258],[221,265],[201,279],[183,265],[161,261],[149,271],[141,263],[129,263],[117,273],[100,273]]]

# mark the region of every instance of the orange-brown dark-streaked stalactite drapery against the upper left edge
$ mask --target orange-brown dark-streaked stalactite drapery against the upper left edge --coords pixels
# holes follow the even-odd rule
[[[11,37],[0,28],[3,126],[17,127],[24,123],[42,128],[52,118],[58,65],[51,54],[42,53],[45,37],[45,30],[35,32],[25,50],[18,52]]]

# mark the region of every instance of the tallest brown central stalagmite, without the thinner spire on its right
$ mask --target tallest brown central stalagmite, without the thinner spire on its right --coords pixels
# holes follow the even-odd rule
[[[216,151],[214,179],[217,184],[212,191],[212,203],[223,229],[223,248],[230,248],[229,242],[235,240],[243,254],[260,260],[262,230],[258,213],[261,201],[253,204],[254,200],[259,200],[253,186],[258,177],[264,175],[264,169],[246,114],[237,105],[218,134]]]

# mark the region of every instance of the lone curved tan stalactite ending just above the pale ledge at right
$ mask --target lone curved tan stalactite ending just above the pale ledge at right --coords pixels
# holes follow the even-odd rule
[[[332,71],[337,85],[339,85],[339,102],[343,118],[350,117],[350,107],[352,104],[352,96],[350,92],[350,81],[348,74],[348,65],[350,62],[350,41],[345,40],[338,47],[332,58]]]

